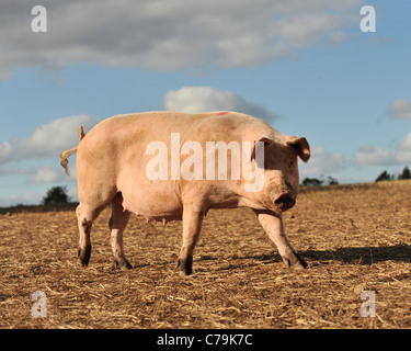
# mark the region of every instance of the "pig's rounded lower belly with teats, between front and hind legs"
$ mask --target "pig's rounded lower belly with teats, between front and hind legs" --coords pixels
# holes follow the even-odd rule
[[[128,211],[137,216],[150,220],[159,220],[164,224],[170,220],[181,220],[183,206],[179,196],[164,190],[145,190],[124,192],[123,211]]]

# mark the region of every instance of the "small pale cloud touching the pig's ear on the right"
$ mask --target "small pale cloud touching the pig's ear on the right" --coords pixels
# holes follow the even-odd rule
[[[307,163],[300,162],[299,169],[304,177],[330,174],[345,168],[342,154],[330,154],[322,146],[312,146],[311,157]]]

